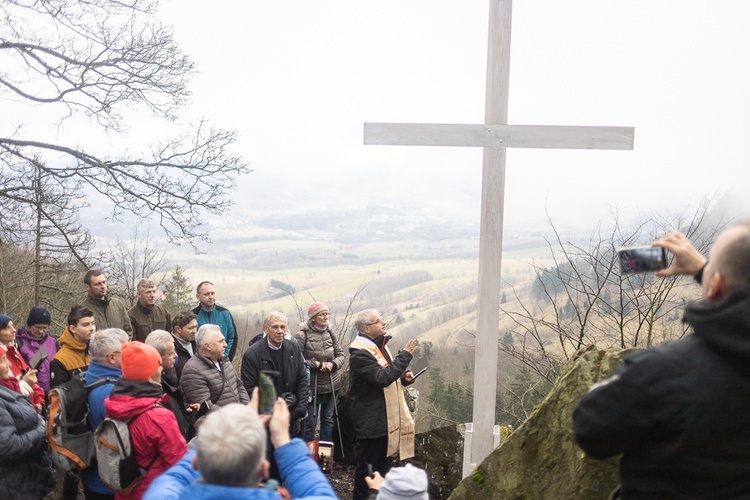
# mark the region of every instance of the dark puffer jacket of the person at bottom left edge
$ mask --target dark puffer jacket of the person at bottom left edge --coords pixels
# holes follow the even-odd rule
[[[0,498],[42,498],[54,486],[41,418],[29,398],[0,386]]]

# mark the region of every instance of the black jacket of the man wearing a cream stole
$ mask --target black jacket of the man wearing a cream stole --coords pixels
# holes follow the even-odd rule
[[[386,335],[379,342],[375,341],[381,352],[390,338],[390,335]],[[385,410],[383,388],[399,378],[402,384],[408,385],[403,375],[411,359],[410,353],[401,351],[388,366],[382,367],[375,356],[369,352],[362,349],[349,349],[349,398],[354,435],[358,439],[373,439],[388,435],[388,416]]]

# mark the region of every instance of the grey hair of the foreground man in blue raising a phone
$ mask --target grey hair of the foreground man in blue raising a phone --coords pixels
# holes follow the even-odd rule
[[[231,422],[232,432],[227,432]],[[197,465],[208,484],[256,486],[266,458],[266,430],[254,410],[231,403],[209,413],[195,438]]]

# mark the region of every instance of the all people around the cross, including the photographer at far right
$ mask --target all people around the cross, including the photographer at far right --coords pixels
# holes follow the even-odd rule
[[[701,284],[703,299],[684,315],[693,333],[628,357],[592,387],[573,415],[575,439],[593,458],[622,454],[618,498],[747,498],[750,223],[722,233],[710,259],[678,232],[653,245],[674,256],[657,275],[694,275]],[[174,315],[156,303],[149,280],[130,309],[107,294],[100,271],[86,273],[84,286],[86,299],[71,308],[59,338],[44,307],[33,307],[20,328],[0,314],[0,498],[42,498],[55,486],[45,432],[55,423],[45,416],[48,395],[69,383],[85,384],[91,431],[125,423],[140,477],[118,489],[101,464],[65,469],[66,500],[79,486],[87,499],[336,498],[305,445],[334,437],[344,366],[324,303],[310,304],[296,334],[283,313],[267,314],[238,375],[237,330],[210,282],[197,287],[198,307]],[[354,326],[353,498],[427,498],[424,471],[389,472],[387,461],[414,456],[402,387],[414,381],[417,342],[393,355],[375,309],[361,311]],[[267,409],[259,400],[269,394]]]

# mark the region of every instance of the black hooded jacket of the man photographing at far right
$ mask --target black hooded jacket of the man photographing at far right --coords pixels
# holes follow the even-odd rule
[[[750,287],[688,304],[694,333],[628,357],[573,414],[586,453],[623,453],[622,498],[750,498]]]

